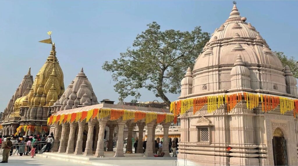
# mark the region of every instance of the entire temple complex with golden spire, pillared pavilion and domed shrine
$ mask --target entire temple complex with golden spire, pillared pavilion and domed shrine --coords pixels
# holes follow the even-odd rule
[[[246,20],[234,4],[170,109],[98,102],[83,68],[64,91],[53,43],[35,80],[29,68],[1,114],[0,134],[53,132],[55,153],[46,155],[69,160],[152,157],[155,140],[168,147],[179,139],[177,165],[298,165],[297,80]],[[168,148],[162,152],[169,156]]]

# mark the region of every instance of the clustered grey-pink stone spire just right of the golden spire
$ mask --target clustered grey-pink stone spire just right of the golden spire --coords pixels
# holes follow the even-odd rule
[[[56,113],[62,110],[95,104],[99,104],[99,102],[82,68],[76,78],[66,88],[60,99],[54,103],[52,112]]]

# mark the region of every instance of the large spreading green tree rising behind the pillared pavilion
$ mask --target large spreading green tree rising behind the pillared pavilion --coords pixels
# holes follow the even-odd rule
[[[193,67],[202,52],[209,34],[197,26],[191,32],[173,29],[161,31],[156,23],[150,23],[136,36],[132,48],[128,47],[120,58],[105,61],[103,69],[112,72],[112,79],[119,98],[129,95],[138,99],[138,89],[153,91],[167,105],[167,93],[180,93],[180,82],[187,67]]]

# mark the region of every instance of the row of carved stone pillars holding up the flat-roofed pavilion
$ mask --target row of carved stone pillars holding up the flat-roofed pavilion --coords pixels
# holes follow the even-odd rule
[[[86,123],[79,122],[79,123],[70,123],[70,124],[62,124],[55,125],[55,132],[54,132],[54,145],[53,151],[58,151],[58,153],[66,153],[66,154],[83,154],[84,156],[93,155],[93,149],[95,149],[95,157],[104,157],[104,131],[105,126],[108,120],[100,119],[98,120],[98,127],[95,127],[96,122],[91,121],[88,122],[88,135],[86,140],[86,148],[83,154],[83,131],[85,128]],[[122,121],[118,120],[118,139],[117,139],[117,147],[114,157],[124,157],[123,152],[123,140],[124,140],[124,127],[127,124],[128,127],[128,141],[127,141],[127,148],[126,152],[132,152],[132,132],[134,129],[134,123],[131,121]],[[139,127],[139,141],[137,146],[137,153],[143,153],[143,130],[145,127],[145,123],[137,123]],[[76,129],[78,127],[78,134],[77,140],[76,137]],[[94,127],[96,129],[94,147],[93,145],[93,130]],[[155,151],[155,123],[148,123],[148,137],[147,137],[147,144],[146,144],[146,151],[145,156],[153,156],[153,151]],[[164,147],[168,147],[168,133],[170,124],[163,124],[164,127]],[[110,126],[110,133],[109,133],[109,145],[108,151],[113,151],[113,134],[114,134],[114,126]],[[59,135],[61,133],[61,136]],[[58,148],[58,141],[60,137],[60,146]],[[149,143],[149,140],[152,140],[152,143]],[[76,147],[74,148],[74,143],[76,141]],[[163,148],[164,156],[170,156],[168,148]]]

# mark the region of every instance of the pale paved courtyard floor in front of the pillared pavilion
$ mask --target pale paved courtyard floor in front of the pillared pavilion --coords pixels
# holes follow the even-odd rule
[[[2,157],[2,155],[1,155]],[[92,162],[97,162],[99,165],[123,165],[123,166],[135,166],[135,165],[142,165],[142,166],[176,166],[176,157],[173,159],[118,159],[118,160],[92,160]],[[22,166],[88,166],[88,164],[81,164],[81,163],[74,163],[62,160],[55,160],[51,158],[44,158],[35,156],[33,159],[31,156],[10,156],[8,163],[1,163],[2,165],[7,166],[15,166],[15,165],[22,165]]]

